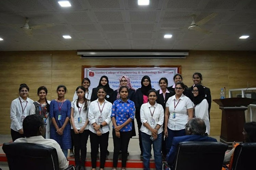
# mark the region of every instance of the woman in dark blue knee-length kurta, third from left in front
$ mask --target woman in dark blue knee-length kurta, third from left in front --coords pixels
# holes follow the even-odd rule
[[[70,135],[70,112],[71,102],[64,99],[67,88],[64,85],[57,87],[58,99],[52,100],[50,104],[50,118],[51,124],[51,139],[56,140],[64,155],[67,157],[68,149],[71,148]]]

